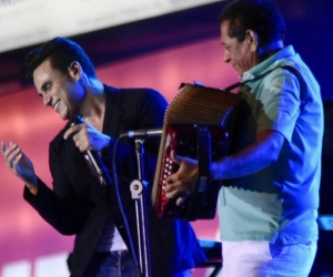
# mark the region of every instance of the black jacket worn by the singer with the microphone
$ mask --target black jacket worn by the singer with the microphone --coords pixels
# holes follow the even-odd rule
[[[131,199],[130,194],[130,183],[138,178],[135,151],[129,147],[129,144],[134,142],[132,138],[121,138],[115,148],[114,142],[120,134],[128,131],[161,127],[167,101],[150,89],[115,89],[104,85],[104,92],[107,105],[103,133],[110,135],[112,140],[101,155],[112,173],[112,155],[115,151],[121,199],[133,243],[138,248],[134,201]],[[115,186],[101,187],[73,141],[63,138],[68,127],[69,124],[50,143],[49,163],[53,191],[39,179],[38,194],[33,196],[26,188],[24,198],[61,234],[75,235],[71,276],[80,277],[95,250],[110,213],[128,248],[131,248],[119,209]],[[145,141],[144,173],[150,187],[153,183],[158,148],[159,142],[154,142],[153,138]],[[152,152],[155,155],[151,155]],[[190,224],[159,218],[153,212],[150,199],[148,193],[152,276],[167,277],[204,263],[204,254]]]

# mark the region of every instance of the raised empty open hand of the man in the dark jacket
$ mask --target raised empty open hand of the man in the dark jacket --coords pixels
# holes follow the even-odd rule
[[[37,192],[38,178],[33,170],[33,164],[20,147],[10,142],[8,147],[6,142],[1,142],[1,154],[8,168],[21,178],[30,191]]]

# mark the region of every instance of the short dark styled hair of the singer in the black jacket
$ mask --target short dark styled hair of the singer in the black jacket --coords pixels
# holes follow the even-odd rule
[[[33,71],[48,59],[52,69],[63,74],[67,74],[70,64],[77,61],[88,76],[97,76],[94,66],[83,49],[72,40],[57,37],[28,53],[26,57],[27,78],[31,80]]]

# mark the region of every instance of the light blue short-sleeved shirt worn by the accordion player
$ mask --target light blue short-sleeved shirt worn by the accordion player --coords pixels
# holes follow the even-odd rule
[[[304,80],[281,69],[292,65]],[[319,185],[323,111],[320,86],[293,48],[244,73],[251,80],[240,90],[251,107],[244,119],[239,150],[255,141],[261,131],[275,130],[285,143],[273,165],[250,176],[233,179],[219,197],[221,239],[309,243],[317,238]],[[268,153],[270,155],[270,153]]]

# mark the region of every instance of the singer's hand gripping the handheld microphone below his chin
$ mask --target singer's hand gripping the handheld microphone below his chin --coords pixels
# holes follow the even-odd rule
[[[81,152],[93,150],[101,151],[110,143],[111,137],[99,132],[89,123],[73,125],[65,131],[63,138],[73,136],[73,141]]]

